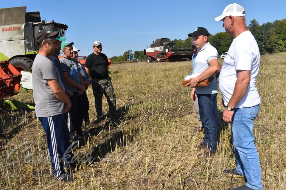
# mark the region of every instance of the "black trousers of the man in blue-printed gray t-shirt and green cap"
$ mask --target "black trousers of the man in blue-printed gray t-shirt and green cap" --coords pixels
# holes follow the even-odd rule
[[[83,113],[80,108],[83,102],[83,95],[78,96],[77,92],[73,92],[73,94],[73,96],[69,97],[71,100],[71,109],[65,116],[70,134],[74,135],[77,132],[77,136],[79,136],[82,134]]]

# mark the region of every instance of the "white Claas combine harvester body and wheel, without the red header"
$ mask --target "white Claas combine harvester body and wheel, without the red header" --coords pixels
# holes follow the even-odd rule
[[[0,61],[9,61],[21,72],[21,85],[32,89],[31,70],[38,53],[36,35],[49,30],[63,37],[67,29],[66,24],[41,20],[40,12],[26,12],[26,7],[0,9]]]

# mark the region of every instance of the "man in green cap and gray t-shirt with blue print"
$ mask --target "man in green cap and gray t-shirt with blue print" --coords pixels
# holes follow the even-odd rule
[[[71,100],[71,109],[68,111],[67,123],[71,140],[77,140],[78,137],[82,136],[81,125],[83,116],[79,106],[80,102],[82,102],[86,87],[83,85],[83,77],[79,72],[77,61],[71,58],[73,56],[73,44],[73,42],[62,42],[61,49],[64,55],[60,58],[60,66],[66,82],[66,88],[73,92],[73,95],[69,97]],[[75,136],[75,132],[77,136]]]

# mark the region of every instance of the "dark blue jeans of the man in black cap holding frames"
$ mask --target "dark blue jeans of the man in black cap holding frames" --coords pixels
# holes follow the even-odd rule
[[[215,106],[217,94],[197,94],[199,100],[200,121],[203,123],[204,145],[211,151],[217,151],[217,121],[215,119]]]

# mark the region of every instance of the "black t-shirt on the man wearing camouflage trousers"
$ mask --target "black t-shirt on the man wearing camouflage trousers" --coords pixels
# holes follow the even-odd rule
[[[103,79],[108,77],[107,66],[108,60],[104,53],[100,53],[100,55],[91,53],[86,58],[85,67],[91,69],[91,78],[93,79]]]

